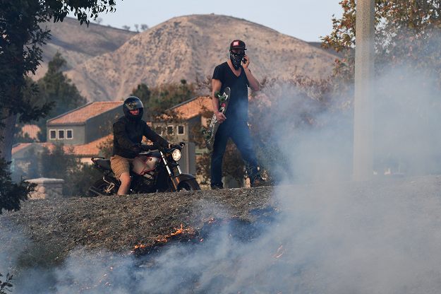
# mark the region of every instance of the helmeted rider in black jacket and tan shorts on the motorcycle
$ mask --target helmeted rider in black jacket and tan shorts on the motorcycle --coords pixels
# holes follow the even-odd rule
[[[126,98],[123,102],[124,116],[120,117],[113,125],[114,148],[110,158],[111,169],[116,179],[120,180],[118,194],[128,194],[130,189],[130,164],[141,151],[155,150],[158,145],[169,147],[170,144],[147,126],[141,119],[144,114],[143,102],[134,96]],[[145,136],[154,142],[152,146],[143,146],[141,142]]]

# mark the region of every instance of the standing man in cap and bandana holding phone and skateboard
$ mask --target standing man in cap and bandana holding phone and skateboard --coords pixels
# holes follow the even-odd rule
[[[245,54],[245,43],[234,40],[230,45],[229,61],[219,64],[215,68],[212,77],[213,86],[213,109],[219,121],[219,129],[213,144],[211,158],[211,188],[223,189],[222,184],[222,158],[224,157],[226,143],[231,139],[236,144],[243,161],[246,163],[251,187],[262,184],[258,177],[258,163],[251,142],[250,129],[248,128],[248,88],[259,90],[259,82],[248,69],[250,57]],[[243,62],[243,65],[241,65]],[[215,92],[224,92],[231,89],[230,101],[225,114],[219,112],[219,99]]]

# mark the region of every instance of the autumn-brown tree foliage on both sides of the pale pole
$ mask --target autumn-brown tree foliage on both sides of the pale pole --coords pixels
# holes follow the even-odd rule
[[[334,64],[335,76],[354,81],[356,0],[344,0],[341,19],[333,18],[333,32],[322,37],[322,47],[344,52]],[[375,69],[404,67],[441,82],[441,4],[435,0],[375,1]]]

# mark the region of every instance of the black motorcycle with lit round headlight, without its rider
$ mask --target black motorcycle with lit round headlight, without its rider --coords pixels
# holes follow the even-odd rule
[[[179,167],[178,161],[181,159],[183,146],[185,143],[173,145],[171,148],[158,146],[158,152],[139,153],[131,164],[132,181],[129,194],[200,190],[196,178],[184,174]],[[114,177],[110,160],[98,156],[91,160],[104,177],[89,188],[89,196],[116,194],[121,182]]]

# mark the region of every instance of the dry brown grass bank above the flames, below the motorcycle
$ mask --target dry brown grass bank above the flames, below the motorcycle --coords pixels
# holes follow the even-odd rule
[[[272,187],[157,193],[97,198],[25,201],[21,211],[4,212],[1,227],[16,225],[32,242],[23,247],[23,267],[61,264],[75,247],[148,254],[169,240],[200,240],[210,221],[255,220],[250,213],[273,204]],[[1,240],[17,248],[13,238]]]

